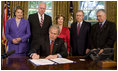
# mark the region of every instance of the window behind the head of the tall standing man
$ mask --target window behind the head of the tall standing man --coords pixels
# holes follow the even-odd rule
[[[52,16],[52,1],[29,1],[28,15],[38,12],[38,5],[41,2],[46,3],[46,14]]]

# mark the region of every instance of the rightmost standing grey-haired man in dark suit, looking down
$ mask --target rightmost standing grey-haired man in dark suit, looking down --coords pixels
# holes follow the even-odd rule
[[[91,48],[100,49],[98,54],[101,54],[105,48],[113,48],[116,41],[116,25],[106,20],[106,12],[100,9],[96,13],[98,22],[91,28]],[[88,52],[87,52],[88,53]]]

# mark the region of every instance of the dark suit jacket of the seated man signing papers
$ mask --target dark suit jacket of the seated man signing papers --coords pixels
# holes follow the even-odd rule
[[[41,39],[41,43],[38,44],[35,48],[30,50],[30,53],[38,53],[40,56],[48,56],[50,55],[50,40],[49,38]],[[61,38],[57,38],[53,44],[52,55],[60,54],[62,57],[67,57],[67,49],[64,45],[64,40]]]

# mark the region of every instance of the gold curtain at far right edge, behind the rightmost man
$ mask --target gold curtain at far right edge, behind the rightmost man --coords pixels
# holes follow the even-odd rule
[[[106,1],[106,12],[107,20],[114,22],[117,28],[117,1]],[[114,44],[114,60],[117,61],[117,42]]]

